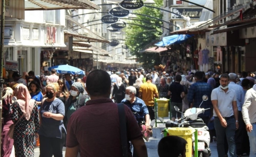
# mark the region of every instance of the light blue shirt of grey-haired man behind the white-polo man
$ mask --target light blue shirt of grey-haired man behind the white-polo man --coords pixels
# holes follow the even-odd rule
[[[242,107],[245,101],[244,89],[242,86],[236,84],[235,82],[230,82],[228,88],[233,89],[236,92],[236,104],[238,111],[242,111]]]

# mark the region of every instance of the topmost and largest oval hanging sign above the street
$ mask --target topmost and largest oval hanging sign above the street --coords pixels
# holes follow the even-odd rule
[[[119,6],[126,10],[137,10],[144,6],[144,2],[142,0],[123,0]]]

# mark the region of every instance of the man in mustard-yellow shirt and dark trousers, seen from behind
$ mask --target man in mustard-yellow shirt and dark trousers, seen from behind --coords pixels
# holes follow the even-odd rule
[[[158,90],[157,86],[152,83],[152,76],[147,75],[146,76],[146,83],[143,83],[139,88],[139,98],[142,99],[149,112],[150,116],[150,128],[152,129],[155,125],[156,121],[156,114],[155,114],[155,98],[158,98]]]

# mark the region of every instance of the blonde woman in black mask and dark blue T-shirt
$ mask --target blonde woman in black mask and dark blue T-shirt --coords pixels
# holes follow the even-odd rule
[[[40,157],[62,157],[62,148],[66,136],[63,125],[65,107],[63,102],[56,98],[59,90],[58,83],[46,86],[46,96],[40,110]]]

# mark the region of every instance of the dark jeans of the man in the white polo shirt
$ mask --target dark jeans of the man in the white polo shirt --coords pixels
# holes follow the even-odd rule
[[[226,134],[228,150],[230,157],[237,157],[236,155],[236,144],[235,144],[235,131],[236,131],[236,122],[235,118],[231,118],[226,120],[227,127],[224,128],[221,125],[221,121],[218,117],[214,117],[214,127],[217,135],[217,151],[219,157],[225,156],[224,150],[224,137]]]

